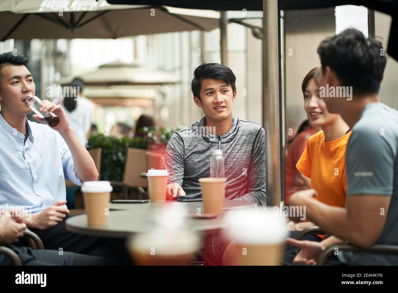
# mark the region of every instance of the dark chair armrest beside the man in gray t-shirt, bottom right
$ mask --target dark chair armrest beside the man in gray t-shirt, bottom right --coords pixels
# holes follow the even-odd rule
[[[336,245],[331,245],[328,248],[326,248],[324,251],[322,251],[319,256],[318,260],[316,262],[316,265],[324,265],[326,260],[334,254],[336,248],[338,251],[353,251],[353,252],[359,252],[359,251],[366,251],[366,252],[378,252],[378,253],[393,253],[393,254],[398,254],[398,245],[389,245],[389,244],[375,244],[371,246],[370,248],[360,248],[358,246],[354,246],[351,244],[336,244]]]

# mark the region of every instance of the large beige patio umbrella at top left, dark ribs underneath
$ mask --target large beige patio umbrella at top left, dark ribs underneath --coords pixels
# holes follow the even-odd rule
[[[199,16],[198,16],[199,15]],[[105,0],[2,0],[0,41],[6,39],[116,39],[219,27],[219,12]]]

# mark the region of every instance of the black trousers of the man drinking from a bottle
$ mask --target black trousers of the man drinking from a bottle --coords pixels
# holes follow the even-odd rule
[[[93,237],[69,232],[65,228],[65,220],[70,216],[66,216],[62,222],[50,229],[29,228],[29,230],[40,237],[46,250],[56,250],[57,252],[62,250],[90,256],[102,256],[110,258],[120,265],[132,264],[125,247],[125,239]],[[21,238],[14,245],[29,246],[26,238]]]

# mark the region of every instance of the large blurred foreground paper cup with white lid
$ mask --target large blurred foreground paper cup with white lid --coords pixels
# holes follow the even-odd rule
[[[270,210],[230,210],[224,217],[224,234],[232,242],[227,265],[281,265],[287,231],[283,218]]]

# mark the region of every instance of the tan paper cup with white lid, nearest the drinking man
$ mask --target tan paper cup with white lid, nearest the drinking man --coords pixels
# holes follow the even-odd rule
[[[112,186],[109,181],[86,181],[81,191],[89,225],[105,225],[108,220],[108,204]]]

